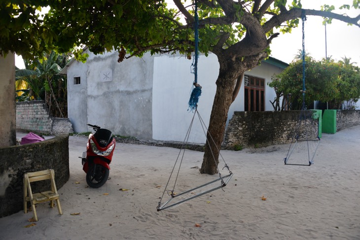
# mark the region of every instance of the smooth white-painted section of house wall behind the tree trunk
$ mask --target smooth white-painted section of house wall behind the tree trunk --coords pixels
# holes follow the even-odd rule
[[[165,141],[183,141],[193,113],[188,111],[194,74],[190,72],[192,61],[184,56],[162,55],[154,60],[152,92],[152,138]],[[209,124],[216,92],[219,64],[215,54],[201,55],[198,61],[198,83],[202,86],[198,111],[206,127]],[[204,143],[205,134],[196,117],[189,142]]]

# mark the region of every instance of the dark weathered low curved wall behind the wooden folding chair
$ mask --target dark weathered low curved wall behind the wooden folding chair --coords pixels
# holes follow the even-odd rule
[[[69,135],[45,141],[0,148],[0,217],[23,210],[23,177],[25,172],[53,169],[57,188],[70,177]],[[43,183],[32,184],[41,191]],[[49,184],[49,182],[47,183]]]

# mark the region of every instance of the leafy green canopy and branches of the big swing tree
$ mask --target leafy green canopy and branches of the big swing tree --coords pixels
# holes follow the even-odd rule
[[[324,11],[301,9],[300,0],[198,2],[199,51],[218,52],[226,48],[233,58],[258,54],[264,49],[269,52],[276,32],[290,32],[302,14],[360,26],[360,16],[332,13],[334,7],[328,5],[324,5]],[[354,0],[353,7],[358,8],[359,2]],[[164,0],[2,0],[0,53],[14,51],[30,58],[41,56],[42,51],[68,52],[74,46],[86,45],[94,53],[125,48],[130,54],[127,57],[142,56],[146,51],[189,54],[194,47],[192,0],[174,3],[178,9],[168,9]],[[45,6],[50,6],[50,10],[41,19],[36,10]]]

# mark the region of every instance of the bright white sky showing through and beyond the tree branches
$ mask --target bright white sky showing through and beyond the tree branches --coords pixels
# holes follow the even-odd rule
[[[172,2],[168,0],[169,2]],[[342,4],[352,4],[352,0],[302,0],[302,7],[306,9],[320,10],[324,4],[334,5],[337,9]],[[360,9],[336,10],[334,12],[347,12],[350,17],[360,14]],[[308,16],[305,22],[305,52],[311,57],[320,61],[325,57],[325,27],[323,18]],[[327,57],[336,61],[343,57],[351,58],[351,62],[356,62],[360,66],[360,28],[348,26],[346,23],[332,20],[326,26]],[[272,40],[271,56],[283,62],[290,63],[294,56],[302,48],[301,21],[299,27],[293,29],[291,34],[280,34]],[[21,57],[15,57],[15,65],[22,69],[24,63]]]

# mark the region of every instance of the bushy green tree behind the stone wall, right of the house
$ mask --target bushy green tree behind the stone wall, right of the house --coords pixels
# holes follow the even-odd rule
[[[344,101],[357,102],[360,97],[360,69],[350,63],[350,59],[316,61],[310,56],[305,58],[305,103],[311,106],[314,101],[330,102],[330,108],[339,109]],[[289,98],[291,110],[301,109],[302,97],[302,60],[294,60],[288,68],[274,76],[268,85],[276,90],[277,106],[281,108],[280,98]],[[275,105],[274,105],[275,108]]]

